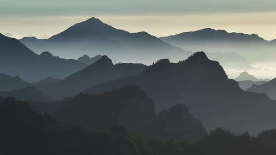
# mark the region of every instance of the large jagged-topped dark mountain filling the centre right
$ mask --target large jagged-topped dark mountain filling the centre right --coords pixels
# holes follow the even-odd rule
[[[157,111],[173,103],[185,104],[206,130],[221,126],[256,134],[276,126],[271,117],[275,101],[264,94],[243,91],[236,81],[227,78],[218,62],[209,60],[203,52],[179,63],[159,60],[137,77],[106,82],[84,92],[97,94],[125,85],[144,89]]]

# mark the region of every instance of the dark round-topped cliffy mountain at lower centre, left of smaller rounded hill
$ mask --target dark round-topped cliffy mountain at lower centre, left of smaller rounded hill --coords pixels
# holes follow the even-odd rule
[[[122,125],[143,132],[154,117],[152,100],[144,90],[134,86],[100,95],[79,94],[56,114],[60,121],[103,131],[112,125]]]

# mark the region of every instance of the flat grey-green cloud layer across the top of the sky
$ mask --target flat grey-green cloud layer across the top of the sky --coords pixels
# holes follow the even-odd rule
[[[6,2],[0,0],[1,15],[156,15],[276,11],[274,0],[13,0]]]

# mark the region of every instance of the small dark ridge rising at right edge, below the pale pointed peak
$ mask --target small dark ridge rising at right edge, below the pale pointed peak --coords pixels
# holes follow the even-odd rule
[[[269,98],[276,99],[276,79],[273,79],[262,85],[252,85],[247,91],[256,93],[265,93]]]

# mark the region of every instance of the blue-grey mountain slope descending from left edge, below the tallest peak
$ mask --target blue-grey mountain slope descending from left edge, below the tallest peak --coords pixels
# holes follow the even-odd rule
[[[54,57],[49,52],[35,54],[20,41],[0,34],[0,72],[19,75],[28,82],[48,76],[63,78],[86,67],[76,60]]]

